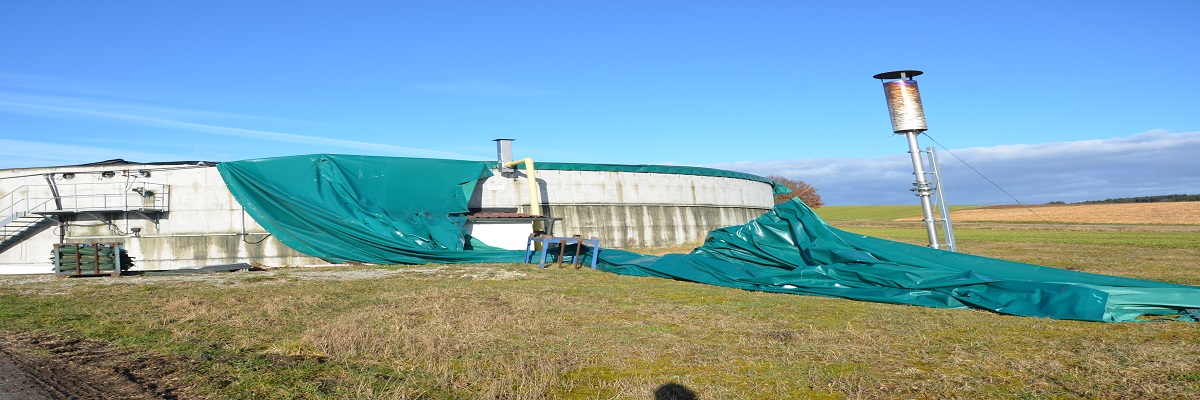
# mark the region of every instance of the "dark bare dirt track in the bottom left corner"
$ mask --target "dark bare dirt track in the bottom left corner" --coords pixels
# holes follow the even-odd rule
[[[168,363],[91,340],[0,330],[0,400],[180,399]]]

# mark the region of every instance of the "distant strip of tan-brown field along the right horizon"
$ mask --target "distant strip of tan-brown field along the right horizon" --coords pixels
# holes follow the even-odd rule
[[[1200,202],[986,207],[950,211],[955,222],[1200,225]],[[920,217],[896,221],[920,221]]]

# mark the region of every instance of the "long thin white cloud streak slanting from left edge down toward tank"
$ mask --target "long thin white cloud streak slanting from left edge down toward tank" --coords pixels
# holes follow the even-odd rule
[[[46,118],[65,118],[65,117],[95,118],[95,119],[114,120],[114,121],[121,121],[142,126],[162,127],[169,130],[232,136],[241,138],[265,139],[281,143],[310,144],[319,147],[334,147],[341,149],[366,150],[373,154],[386,154],[396,156],[468,159],[468,160],[486,159],[475,155],[467,155],[451,151],[439,151],[439,150],[398,147],[391,144],[335,139],[319,136],[295,135],[287,132],[272,132],[272,131],[248,130],[248,129],[212,125],[212,124],[190,123],[176,119],[179,117],[175,115],[214,117],[215,114],[205,112],[193,112],[186,109],[169,109],[154,106],[137,106],[122,102],[106,102],[92,98],[23,95],[23,94],[0,91],[0,112],[32,114]],[[167,117],[155,115],[155,114],[167,114]]]

